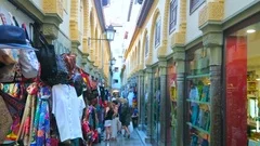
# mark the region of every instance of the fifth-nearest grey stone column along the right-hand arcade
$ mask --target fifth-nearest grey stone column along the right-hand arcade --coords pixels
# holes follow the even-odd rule
[[[144,99],[144,71],[140,70],[139,71],[139,121],[140,124],[143,125],[145,121],[145,99]]]

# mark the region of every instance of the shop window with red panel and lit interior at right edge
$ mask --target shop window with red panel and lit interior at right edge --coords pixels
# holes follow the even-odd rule
[[[260,23],[225,37],[226,145],[260,145]]]

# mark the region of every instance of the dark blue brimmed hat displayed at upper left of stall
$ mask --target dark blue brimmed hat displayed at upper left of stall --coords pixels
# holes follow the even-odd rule
[[[0,49],[28,49],[35,50],[26,40],[23,28],[12,25],[0,26]]]

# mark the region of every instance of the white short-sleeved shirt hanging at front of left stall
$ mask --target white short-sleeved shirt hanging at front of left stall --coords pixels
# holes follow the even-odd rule
[[[52,114],[55,116],[61,142],[82,138],[80,109],[83,99],[78,98],[72,85],[56,84],[52,88]]]

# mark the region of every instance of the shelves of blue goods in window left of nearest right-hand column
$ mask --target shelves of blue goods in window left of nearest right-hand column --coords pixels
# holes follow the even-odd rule
[[[206,141],[209,144],[210,137],[210,74],[187,76],[187,107],[191,145],[200,145]]]

